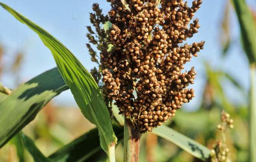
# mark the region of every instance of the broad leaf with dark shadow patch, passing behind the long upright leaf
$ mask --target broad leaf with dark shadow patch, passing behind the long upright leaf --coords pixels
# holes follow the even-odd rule
[[[20,85],[0,102],[0,147],[31,122],[41,108],[68,87],[57,68]]]

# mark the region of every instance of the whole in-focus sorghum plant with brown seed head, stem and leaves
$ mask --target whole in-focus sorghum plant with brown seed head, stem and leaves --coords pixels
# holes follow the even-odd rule
[[[193,67],[185,71],[184,64],[197,56],[204,42],[189,45],[185,41],[200,28],[198,19],[193,17],[202,0],[194,0],[191,7],[183,0],[107,1],[111,2],[108,16],[102,14],[98,4],[93,4],[90,21],[94,28],[87,27],[90,41],[87,48],[91,60],[98,64],[91,74],[59,40],[0,2],[0,6],[39,35],[57,65],[0,101],[0,126],[4,126],[0,129],[0,147],[20,132],[53,97],[70,89],[82,114],[97,129],[86,132],[49,157],[43,156],[31,139],[17,134],[35,161],[90,161],[90,158],[102,158],[99,155],[104,151],[102,155],[107,155],[109,162],[115,162],[118,137],[124,139],[124,161],[137,162],[140,134],[151,132],[171,119],[183,103],[195,96],[188,86],[194,83],[196,72]],[[112,23],[107,31],[102,28],[106,23]],[[112,102],[125,117],[124,125],[121,118],[120,124],[113,126],[107,110],[111,113]],[[120,119],[118,117],[115,116]],[[167,126],[159,128],[153,133],[196,158],[208,158],[208,148]],[[85,148],[84,143],[88,147]],[[81,153],[73,155],[74,152]]]

